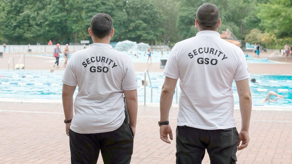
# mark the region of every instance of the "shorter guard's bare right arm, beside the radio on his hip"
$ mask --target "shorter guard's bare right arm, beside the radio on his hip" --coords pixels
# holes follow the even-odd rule
[[[132,131],[136,133],[136,124],[137,124],[137,112],[138,112],[138,98],[137,98],[137,90],[124,90],[124,95],[126,98],[127,109],[130,117],[130,126]]]

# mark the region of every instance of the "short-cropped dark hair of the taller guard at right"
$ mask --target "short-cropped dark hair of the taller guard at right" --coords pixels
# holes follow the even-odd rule
[[[202,30],[215,30],[218,26],[219,9],[210,3],[202,4],[196,13],[196,19]]]

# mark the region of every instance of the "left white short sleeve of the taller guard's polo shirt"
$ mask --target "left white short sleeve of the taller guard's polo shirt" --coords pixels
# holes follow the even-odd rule
[[[177,65],[176,50],[174,46],[166,62],[163,75],[172,79],[179,79],[179,68]]]

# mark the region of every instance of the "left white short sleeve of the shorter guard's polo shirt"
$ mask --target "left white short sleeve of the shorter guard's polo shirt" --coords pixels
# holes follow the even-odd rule
[[[73,59],[72,57],[68,61],[68,64],[66,66],[62,83],[70,86],[77,86],[77,79],[76,79],[76,74],[73,69]]]

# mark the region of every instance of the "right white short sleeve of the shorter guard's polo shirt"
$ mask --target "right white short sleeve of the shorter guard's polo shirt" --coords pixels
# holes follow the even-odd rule
[[[135,69],[131,60],[128,63],[126,73],[122,81],[122,88],[123,90],[135,90],[138,88]]]

